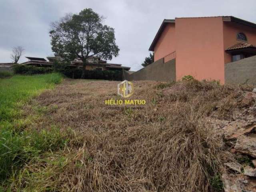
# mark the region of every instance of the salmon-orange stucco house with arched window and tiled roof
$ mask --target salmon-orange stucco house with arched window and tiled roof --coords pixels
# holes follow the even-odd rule
[[[176,80],[224,83],[226,63],[256,55],[256,24],[233,16],[165,19],[149,50],[154,61],[176,59]]]

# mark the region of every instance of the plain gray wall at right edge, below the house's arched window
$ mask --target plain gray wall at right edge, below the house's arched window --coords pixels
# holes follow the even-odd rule
[[[256,84],[256,56],[225,64],[225,84]]]

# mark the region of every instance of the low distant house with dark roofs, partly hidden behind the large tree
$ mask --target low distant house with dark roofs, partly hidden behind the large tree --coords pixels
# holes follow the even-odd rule
[[[54,60],[62,60],[60,56],[55,54],[53,57],[46,57],[48,61],[44,58],[26,57],[27,62],[21,63],[22,65],[30,65],[37,67],[52,67]],[[75,59],[68,65],[70,68],[82,68],[83,63],[81,60]],[[86,70],[130,70],[130,67],[124,67],[122,64],[107,63],[101,60],[100,57],[90,57],[88,59],[88,64],[86,65]]]

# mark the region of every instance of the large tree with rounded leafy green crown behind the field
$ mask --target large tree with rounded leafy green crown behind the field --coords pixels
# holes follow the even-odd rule
[[[111,60],[113,56],[118,56],[114,29],[104,25],[103,20],[102,16],[88,8],[79,14],[67,14],[59,22],[52,23],[52,51],[67,61],[81,60],[82,78],[89,57]]]

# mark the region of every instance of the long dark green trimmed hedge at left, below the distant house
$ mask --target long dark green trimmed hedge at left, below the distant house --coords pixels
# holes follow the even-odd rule
[[[26,65],[14,65],[13,67],[15,74],[46,74],[53,72],[53,68],[44,68],[44,67],[35,67],[35,66],[26,66]]]

